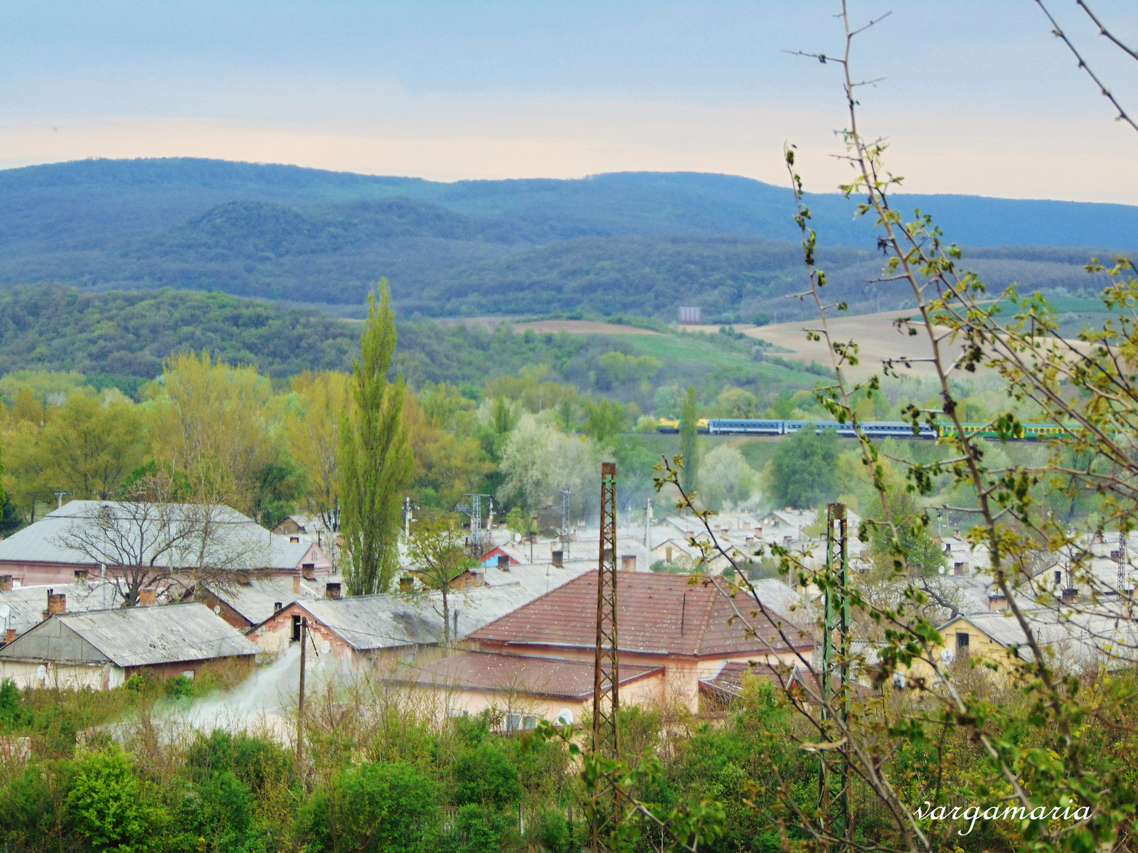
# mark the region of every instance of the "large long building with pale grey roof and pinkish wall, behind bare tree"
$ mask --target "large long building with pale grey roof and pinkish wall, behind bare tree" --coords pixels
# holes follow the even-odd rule
[[[163,569],[193,569],[203,549],[199,543],[182,547],[164,548],[149,553],[165,535],[158,528],[176,528],[179,516],[190,519],[200,513],[189,504],[157,505],[164,512],[152,513],[154,519],[142,519],[140,507],[156,506],[129,502],[72,500],[48,513],[40,521],[0,541],[0,577],[11,577],[14,586],[64,585],[75,579],[77,571],[85,571],[91,581],[118,575],[116,565],[126,556],[142,555],[145,561]],[[99,513],[125,515],[115,536],[100,531]],[[207,558],[224,562],[225,569],[246,569],[261,574],[303,574],[315,579],[327,574],[331,563],[319,545],[300,541],[298,537],[277,536],[262,528],[247,515],[226,506],[213,507],[211,532],[206,537]],[[193,523],[187,521],[185,523]],[[145,531],[145,533],[143,533]],[[99,548],[75,547],[82,535],[96,541]],[[168,535],[170,539],[175,539]],[[115,541],[112,541],[115,539]],[[143,539],[147,541],[143,543]],[[106,541],[104,541],[106,540]],[[98,550],[98,554],[92,552]],[[100,558],[101,556],[101,558]]]

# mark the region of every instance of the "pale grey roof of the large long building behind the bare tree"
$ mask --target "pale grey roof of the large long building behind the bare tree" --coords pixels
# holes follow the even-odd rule
[[[76,525],[82,527],[86,519],[106,506],[110,512],[116,507],[127,510],[129,502],[72,500],[63,507],[48,513],[43,519],[0,541],[0,563],[67,563],[77,565],[94,565],[96,560],[83,550],[64,545],[65,538]],[[172,504],[174,513],[184,512],[190,515],[192,505]],[[257,524],[253,519],[242,515],[228,506],[216,507],[213,523],[217,525],[217,552],[221,555],[241,555],[241,565],[233,569],[282,569],[291,570],[300,565],[310,548],[316,548],[311,543],[290,543],[287,536],[277,536]],[[319,548],[316,548],[319,552]],[[174,560],[171,563],[171,560]],[[220,561],[224,562],[224,561]],[[311,561],[310,561],[311,562]],[[315,562],[328,565],[327,557],[320,555]],[[185,554],[181,560],[170,555],[160,556],[156,565],[167,568],[193,565],[193,557]]]

